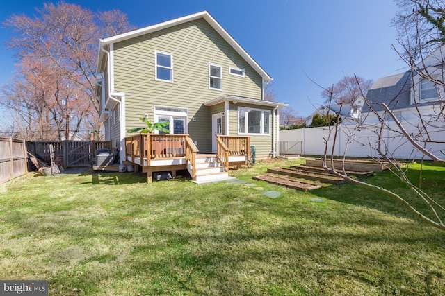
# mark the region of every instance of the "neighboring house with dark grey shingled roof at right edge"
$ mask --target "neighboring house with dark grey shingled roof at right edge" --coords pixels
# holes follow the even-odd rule
[[[396,75],[379,78],[368,90],[366,103],[362,108],[365,123],[375,123],[382,117],[385,103],[399,121],[419,120],[437,116],[439,98],[444,98],[444,87],[437,87],[434,82],[424,78],[430,76],[444,81],[445,46],[432,52],[417,65],[417,71],[406,71]],[[440,96],[437,93],[440,89]],[[385,120],[392,121],[389,115]]]

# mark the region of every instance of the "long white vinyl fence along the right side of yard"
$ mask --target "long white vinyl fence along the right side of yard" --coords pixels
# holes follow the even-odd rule
[[[419,134],[419,122],[404,122],[403,126],[410,134]],[[389,123],[391,130],[398,130],[394,122]],[[329,129],[332,128],[332,134],[329,135]],[[430,128],[428,128],[430,130]],[[378,125],[362,125],[357,128],[356,125],[339,126],[339,132],[335,138],[334,150],[334,128],[302,128],[298,130],[280,131],[280,155],[324,155],[325,143],[327,141],[327,155],[337,157],[375,157],[376,148],[379,147],[382,152],[389,157],[397,159],[421,159],[423,155],[419,150],[414,149],[412,143],[402,137],[400,133],[385,129],[380,131]],[[431,129],[432,130],[432,129]],[[382,134],[379,142],[378,134]],[[430,131],[432,140],[445,141],[445,127],[437,127]],[[292,147],[292,148],[291,148]],[[444,158],[441,150],[445,150],[442,143],[431,143],[426,146],[427,150],[438,157]],[[426,157],[426,159],[429,159]]]

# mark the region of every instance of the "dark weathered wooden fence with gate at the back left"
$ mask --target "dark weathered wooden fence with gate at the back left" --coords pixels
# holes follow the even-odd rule
[[[26,142],[26,148],[29,153],[50,164],[49,145],[51,144],[54,147],[56,164],[64,168],[91,166],[97,149],[111,149],[110,141],[33,141]],[[114,152],[111,151],[111,153]]]

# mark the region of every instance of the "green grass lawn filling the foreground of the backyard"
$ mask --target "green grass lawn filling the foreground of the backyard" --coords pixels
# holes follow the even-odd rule
[[[444,294],[445,232],[394,200],[354,184],[303,193],[252,180],[301,162],[200,186],[20,177],[0,186],[0,279],[45,279],[49,295]],[[445,168],[425,168],[423,189],[443,198]],[[369,181],[409,195],[390,173]],[[280,197],[262,194],[272,190]]]

